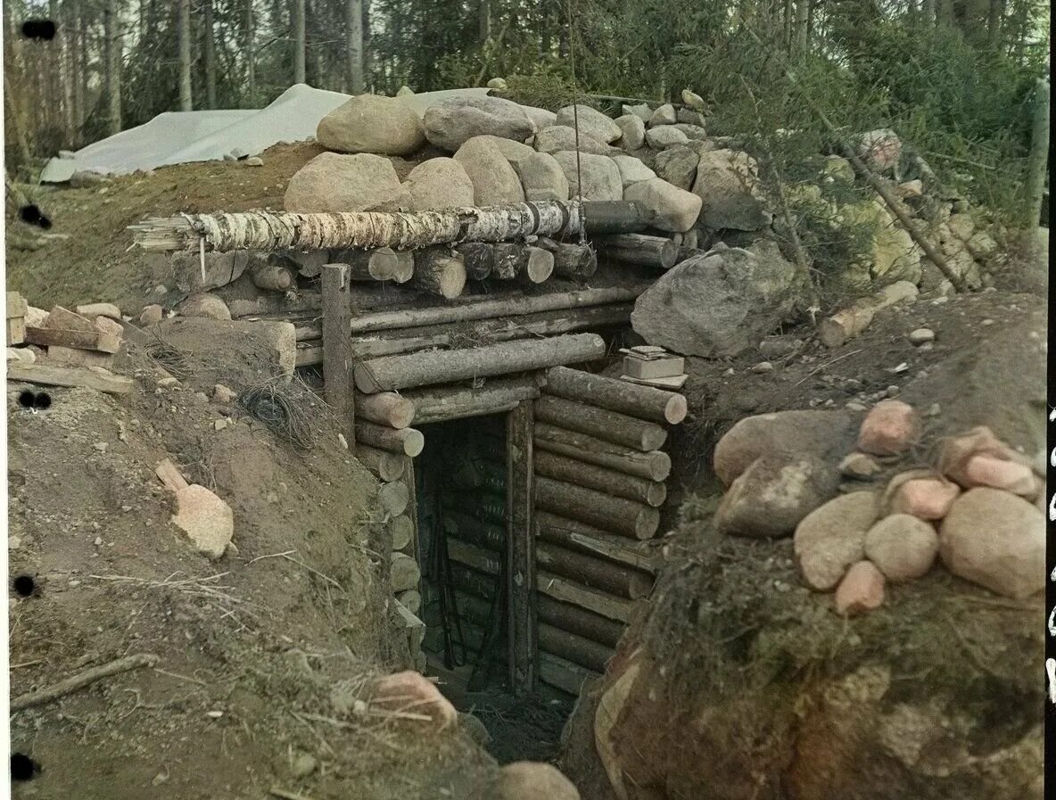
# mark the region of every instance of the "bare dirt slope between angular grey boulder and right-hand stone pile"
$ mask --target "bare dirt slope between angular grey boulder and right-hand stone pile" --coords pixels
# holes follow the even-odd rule
[[[785,355],[686,359],[690,416],[675,432],[676,474],[686,495],[715,490],[715,442],[743,417],[885,396],[926,414],[932,438],[984,424],[1033,457],[1044,446],[1045,313],[1040,296],[984,291],[887,308],[833,349],[809,341],[808,322],[782,331],[780,346],[799,343]],[[922,327],[936,334],[930,347],[909,341]],[[772,368],[755,372],[765,361]]]

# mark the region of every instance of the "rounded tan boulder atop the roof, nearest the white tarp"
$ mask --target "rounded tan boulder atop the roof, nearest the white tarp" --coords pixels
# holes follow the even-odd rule
[[[392,97],[363,94],[353,97],[319,120],[316,139],[342,153],[407,155],[426,141],[421,119]]]

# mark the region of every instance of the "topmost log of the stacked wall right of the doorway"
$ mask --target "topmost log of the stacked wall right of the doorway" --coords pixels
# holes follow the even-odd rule
[[[546,370],[545,391],[566,400],[592,403],[609,411],[673,425],[685,419],[687,407],[682,395],[564,366]]]

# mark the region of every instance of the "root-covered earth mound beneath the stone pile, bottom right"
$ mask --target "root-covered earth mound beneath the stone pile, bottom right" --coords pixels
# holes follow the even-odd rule
[[[628,675],[610,734],[624,798],[1039,798],[1040,603],[936,570],[847,623],[802,586],[791,542],[720,537],[708,519],[581,701],[562,768],[619,797],[595,747],[599,699]],[[639,793],[639,794],[636,794]]]

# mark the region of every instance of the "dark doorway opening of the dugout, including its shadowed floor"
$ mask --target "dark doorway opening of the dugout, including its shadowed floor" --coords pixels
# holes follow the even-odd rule
[[[501,763],[547,760],[574,698],[545,684],[527,697],[510,688],[506,415],[421,428],[415,492],[429,673],[459,711],[484,724]]]

